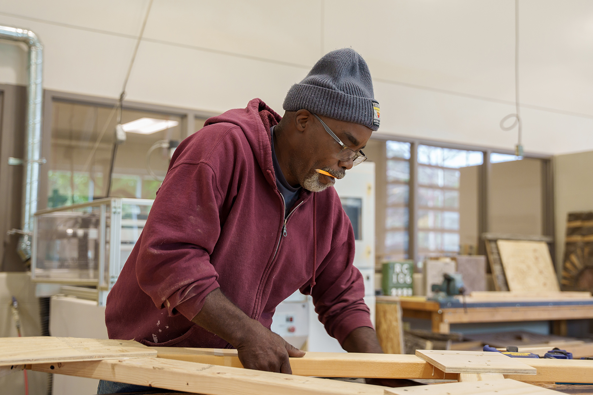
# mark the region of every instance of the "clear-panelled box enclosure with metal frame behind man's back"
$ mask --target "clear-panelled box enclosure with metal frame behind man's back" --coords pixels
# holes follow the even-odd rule
[[[107,198],[38,211],[31,278],[109,291],[142,233],[153,200]]]

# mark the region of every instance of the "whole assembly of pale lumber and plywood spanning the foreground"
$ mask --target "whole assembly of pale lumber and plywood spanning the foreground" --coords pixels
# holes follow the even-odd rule
[[[492,393],[492,388],[498,395],[551,395],[550,390],[528,382],[583,383],[593,377],[593,361],[519,360],[496,352],[426,350],[416,351],[416,355],[307,352],[305,357],[291,358],[290,362],[294,375],[243,369],[236,350],[149,348],[132,341],[97,339],[0,339],[0,367],[5,370],[24,367],[206,395],[384,395],[415,393],[417,388],[423,388],[426,395],[486,394]],[[392,389],[305,376],[460,382]]]

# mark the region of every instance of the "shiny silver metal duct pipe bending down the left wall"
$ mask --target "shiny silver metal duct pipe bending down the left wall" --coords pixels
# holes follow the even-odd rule
[[[23,261],[31,257],[33,214],[37,211],[39,189],[39,166],[45,163],[41,158],[41,120],[43,104],[43,46],[36,34],[30,30],[0,26],[0,38],[23,41],[29,47],[29,69],[27,85],[27,124],[25,143],[25,174],[23,178],[23,207],[18,253]]]

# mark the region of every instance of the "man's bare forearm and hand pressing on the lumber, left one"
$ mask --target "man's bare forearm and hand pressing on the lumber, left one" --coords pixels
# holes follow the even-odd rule
[[[304,351],[286,343],[276,333],[263,327],[232,304],[220,288],[206,296],[202,310],[192,322],[238,350],[239,360],[247,369],[292,374],[288,357],[302,357]]]

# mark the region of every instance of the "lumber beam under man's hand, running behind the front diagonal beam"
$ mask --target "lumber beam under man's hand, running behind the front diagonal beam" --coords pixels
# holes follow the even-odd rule
[[[159,358],[242,368],[234,349],[153,347]],[[431,364],[406,354],[363,354],[356,352],[311,352],[290,358],[292,374],[319,377],[435,378],[457,380]]]

